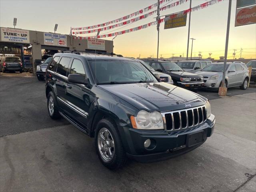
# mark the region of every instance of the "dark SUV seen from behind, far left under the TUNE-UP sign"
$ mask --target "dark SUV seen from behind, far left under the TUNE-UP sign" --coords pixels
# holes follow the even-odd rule
[[[19,57],[3,56],[0,60],[0,68],[5,72],[23,72],[22,62]]]

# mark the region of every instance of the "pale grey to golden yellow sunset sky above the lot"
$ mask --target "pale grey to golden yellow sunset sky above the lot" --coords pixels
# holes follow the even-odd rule
[[[172,2],[176,2],[173,0]],[[0,26],[12,27],[13,18],[17,18],[16,28],[53,32],[54,24],[58,23],[58,33],[69,34],[70,27],[91,26],[101,24],[126,16],[143,9],[157,0],[0,0]],[[172,3],[170,2],[170,3]],[[206,0],[192,0],[192,7],[202,4]],[[166,3],[162,4],[164,6]],[[189,1],[160,12],[160,15],[172,14],[189,8]],[[256,24],[234,27],[236,12],[236,0],[232,0],[232,12],[230,21],[230,38],[228,46],[228,58],[233,58],[232,53],[236,49],[236,57],[240,57],[240,48],[243,48],[242,57],[256,58]],[[114,32],[130,29],[155,20],[156,14],[149,18],[134,22],[126,27],[115,28]],[[218,59],[224,56],[226,26],[228,17],[228,0],[220,2],[192,12],[190,37],[195,38],[192,56],[198,56],[202,52],[203,58],[207,58],[212,52],[212,58]],[[100,34],[110,33],[108,30]],[[88,35],[88,34],[86,34]],[[164,30],[164,24],[160,25],[159,55],[164,58],[183,55],[186,56],[188,36],[187,26]],[[106,38],[111,40],[112,38]],[[156,26],[137,32],[123,34],[114,39],[114,52],[124,56],[142,58],[154,55],[157,51]],[[191,51],[191,42],[189,56]]]

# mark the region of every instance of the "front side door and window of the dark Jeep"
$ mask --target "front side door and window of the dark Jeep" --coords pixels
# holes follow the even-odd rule
[[[80,74],[84,76],[84,78],[87,78],[84,64],[81,60],[74,58],[70,63],[70,66],[68,73]],[[70,106],[69,115],[86,126],[88,123],[88,111],[91,104],[90,89],[82,84],[67,82],[64,98],[66,103]]]

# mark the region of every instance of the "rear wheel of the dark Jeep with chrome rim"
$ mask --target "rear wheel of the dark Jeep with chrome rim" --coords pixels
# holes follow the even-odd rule
[[[50,91],[47,96],[47,108],[48,108],[48,114],[50,118],[52,119],[60,118],[60,112],[58,110],[57,101],[52,91]]]

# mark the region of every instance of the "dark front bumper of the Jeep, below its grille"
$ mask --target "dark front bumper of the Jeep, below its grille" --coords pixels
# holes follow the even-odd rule
[[[174,158],[194,150],[212,135],[214,124],[215,117],[211,114],[205,123],[185,130],[166,132],[165,130],[123,128],[124,134],[120,135],[125,137],[122,140],[125,140],[123,144],[127,156],[138,162],[148,163]],[[198,132],[202,132],[203,140],[193,146],[188,146],[187,136]],[[149,150],[144,147],[144,142],[147,139],[154,141],[154,148]]]

